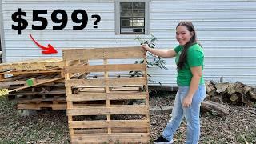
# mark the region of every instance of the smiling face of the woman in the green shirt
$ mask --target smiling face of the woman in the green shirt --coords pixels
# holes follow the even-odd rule
[[[178,26],[176,29],[176,39],[180,45],[186,45],[192,38],[192,34],[187,30],[186,26]]]

